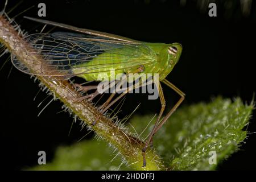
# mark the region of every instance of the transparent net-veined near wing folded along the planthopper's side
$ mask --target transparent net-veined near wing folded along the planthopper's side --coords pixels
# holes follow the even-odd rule
[[[143,43],[123,42],[101,36],[56,32],[26,37],[33,52],[26,53],[29,64],[19,61],[19,45],[11,60],[20,71],[31,75],[75,76],[78,74],[127,69],[154,63],[155,52]],[[36,55],[42,57],[36,60]],[[74,73],[75,68],[82,72]]]

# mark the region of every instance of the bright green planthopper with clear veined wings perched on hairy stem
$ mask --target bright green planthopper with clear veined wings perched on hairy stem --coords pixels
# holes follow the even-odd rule
[[[22,72],[46,77],[60,76],[70,78],[79,76],[86,81],[98,81],[99,78],[108,77],[110,82],[113,81],[111,80],[113,76],[111,75],[111,71],[113,69],[115,70],[114,74],[157,73],[159,75],[159,81],[156,82],[156,80],[154,80],[154,83],[158,89],[161,109],[155,125],[142,148],[143,166],[146,166],[145,152],[147,147],[152,145],[153,136],[184,100],[185,94],[166,80],[166,76],[179,61],[182,51],[181,44],[139,42],[122,36],[77,28],[48,20],[25,18],[79,33],[55,32],[53,34],[28,35],[26,38],[28,43],[35,49],[36,53],[42,55],[44,64],[40,63],[39,65],[38,62],[33,59],[33,56],[29,55],[28,59],[30,59],[30,65],[22,64],[15,56],[20,53],[19,45],[16,45],[11,60],[14,66]],[[47,69],[43,67],[47,67]],[[166,101],[160,82],[163,82],[163,84],[166,84],[180,95],[180,100],[177,101],[175,106],[172,107],[163,119],[162,115],[166,107]],[[97,89],[97,86],[77,86],[85,91]],[[127,88],[127,90],[129,89],[135,89],[135,86]],[[120,94],[115,99],[115,93],[112,93],[108,100],[99,107],[101,113],[105,113],[110,106],[125,96],[126,93],[127,92]],[[100,93],[96,90],[93,94],[89,94],[82,99],[87,98],[92,100],[98,94]],[[95,124],[96,122],[93,123],[93,125]]]

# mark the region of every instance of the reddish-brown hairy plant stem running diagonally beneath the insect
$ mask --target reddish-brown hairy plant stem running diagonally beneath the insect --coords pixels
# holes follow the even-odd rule
[[[43,65],[42,57],[35,54],[33,48],[23,39],[17,29],[18,28],[14,28],[9,20],[6,19],[5,15],[0,14],[0,42],[4,44],[10,52],[13,52],[13,49],[16,46],[15,49],[18,49],[19,55],[15,56],[17,56],[19,61],[22,61],[23,64],[26,64],[29,69],[34,69],[29,67],[31,59],[33,61],[36,60]],[[43,69],[47,70],[48,68],[44,67]],[[51,79],[43,76],[36,77],[43,85],[47,86],[53,95],[62,101],[73,114],[84,121],[90,129],[95,131],[99,137],[105,139],[114,148],[117,148],[118,152],[125,159],[125,162],[132,168],[137,170],[164,169],[163,163],[153,149],[149,149],[146,152],[147,165],[145,168],[142,168],[142,147],[144,146],[144,143],[127,134],[127,131],[120,129],[120,127],[108,117],[102,116],[91,102],[86,100],[78,101],[78,98],[81,97],[81,95],[69,81],[63,79],[60,80],[56,77],[52,77]],[[98,117],[97,124],[93,126],[92,123]]]

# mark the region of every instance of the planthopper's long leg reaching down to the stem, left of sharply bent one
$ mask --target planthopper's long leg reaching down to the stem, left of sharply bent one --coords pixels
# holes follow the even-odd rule
[[[157,86],[157,84],[156,84],[156,86]],[[155,129],[158,127],[158,123],[159,123],[159,121],[160,121],[160,119],[161,119],[161,117],[162,117],[162,115],[163,115],[163,111],[164,111],[164,109],[166,108],[166,100],[164,99],[163,89],[162,89],[162,86],[161,86],[160,82],[159,82],[157,88],[158,88],[159,97],[160,97],[160,102],[161,102],[161,110],[160,110],[160,113],[159,113],[159,115],[158,115],[158,119],[156,120],[155,125],[154,125],[153,129],[151,130],[150,135],[148,136],[148,139],[147,139],[147,141],[146,141],[146,144],[145,144],[145,146],[142,148],[143,167],[146,166],[146,156],[145,156],[145,152],[146,152],[146,150],[147,150],[148,144],[149,144],[149,143],[152,144],[152,138],[153,138],[153,136],[154,136],[154,134],[155,134],[154,131],[155,131]]]

